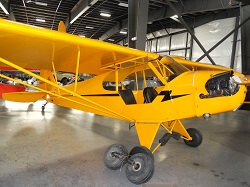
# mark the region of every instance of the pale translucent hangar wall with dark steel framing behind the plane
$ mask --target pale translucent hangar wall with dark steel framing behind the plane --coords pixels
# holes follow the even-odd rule
[[[205,49],[209,50],[235,28],[235,22],[236,18],[215,20],[195,28],[194,33]],[[240,35],[238,32],[234,69],[242,72]],[[216,64],[230,67],[233,37],[234,35],[231,35],[210,53]],[[183,29],[163,29],[148,34],[147,39],[146,51],[161,55],[185,56],[195,61],[204,54],[195,41],[192,45],[190,34]],[[202,62],[210,63],[206,57]]]

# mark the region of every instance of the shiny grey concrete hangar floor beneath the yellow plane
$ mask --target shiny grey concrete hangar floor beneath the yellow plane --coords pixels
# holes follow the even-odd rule
[[[53,104],[42,113],[43,103],[0,100],[0,186],[135,186],[124,169],[111,171],[102,160],[110,144],[138,145],[134,128]],[[249,114],[184,120],[203,133],[202,145],[171,139],[155,154],[153,178],[141,186],[250,186]]]

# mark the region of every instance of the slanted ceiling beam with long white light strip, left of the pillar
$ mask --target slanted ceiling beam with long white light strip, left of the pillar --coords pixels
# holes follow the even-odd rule
[[[79,0],[78,3],[72,8],[69,16],[66,19],[65,26],[69,28],[81,15],[83,15],[92,5],[98,0]]]

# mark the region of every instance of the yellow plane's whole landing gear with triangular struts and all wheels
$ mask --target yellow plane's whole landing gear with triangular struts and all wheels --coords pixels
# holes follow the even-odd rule
[[[183,139],[191,147],[198,147],[202,143],[200,131],[194,128],[186,130],[180,120],[159,124],[144,125],[138,123],[136,125],[140,143],[145,147],[136,146],[128,154],[127,149],[123,145],[111,145],[104,154],[104,163],[112,170],[119,169],[125,165],[125,173],[128,180],[137,185],[146,183],[153,177],[155,169],[153,154],[161,146],[166,145],[170,138],[175,140]],[[158,145],[151,152],[148,148],[151,148],[155,134],[160,126],[167,132],[159,139]]]

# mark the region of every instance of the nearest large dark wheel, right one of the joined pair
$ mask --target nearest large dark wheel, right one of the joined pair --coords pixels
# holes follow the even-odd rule
[[[127,164],[126,176],[134,184],[148,182],[154,174],[154,160],[145,153],[137,153],[130,157],[134,164]]]

